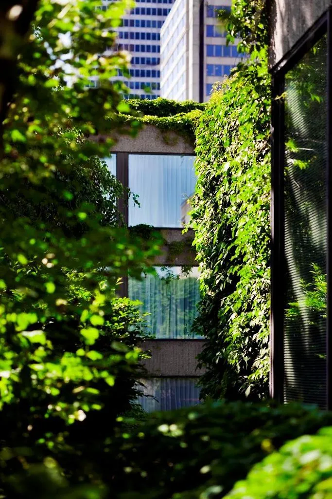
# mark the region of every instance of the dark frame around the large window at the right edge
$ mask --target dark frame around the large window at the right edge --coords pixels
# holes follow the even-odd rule
[[[284,164],[285,106],[280,98],[285,76],[303,56],[327,34],[327,362],[326,408],[332,409],[332,9],[331,7],[272,68],[271,109],[271,309],[270,309],[270,396],[283,400],[283,331],[285,311],[284,261]]]

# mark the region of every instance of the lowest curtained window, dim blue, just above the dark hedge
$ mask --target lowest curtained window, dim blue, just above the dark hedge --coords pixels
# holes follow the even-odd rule
[[[138,397],[146,412],[170,411],[199,404],[200,389],[197,378],[152,378],[140,380],[139,389],[150,397]]]

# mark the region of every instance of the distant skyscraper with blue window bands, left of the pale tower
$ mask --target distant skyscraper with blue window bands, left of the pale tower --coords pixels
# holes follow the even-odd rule
[[[107,0],[104,6],[107,8]],[[122,19],[118,32],[119,50],[131,54],[129,97],[155,99],[160,95],[160,29],[173,0],[136,0],[136,6]]]

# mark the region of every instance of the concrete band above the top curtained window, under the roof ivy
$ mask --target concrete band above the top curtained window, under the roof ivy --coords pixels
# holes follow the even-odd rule
[[[181,135],[145,125],[136,135],[116,135],[113,152],[151,153],[151,154],[195,154],[194,144]]]

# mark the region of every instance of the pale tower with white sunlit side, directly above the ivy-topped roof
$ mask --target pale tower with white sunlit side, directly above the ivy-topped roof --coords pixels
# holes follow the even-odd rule
[[[226,45],[217,10],[231,0],[175,0],[160,32],[160,95],[168,99],[207,101],[212,86],[241,59],[239,40]]]

